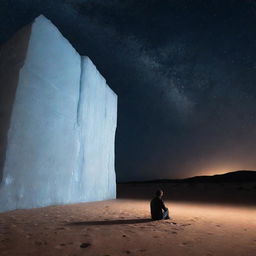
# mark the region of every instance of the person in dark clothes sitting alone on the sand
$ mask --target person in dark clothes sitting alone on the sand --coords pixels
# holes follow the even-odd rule
[[[163,190],[158,189],[156,196],[150,202],[151,218],[152,220],[167,220],[169,217],[169,210],[165,206],[163,197]]]

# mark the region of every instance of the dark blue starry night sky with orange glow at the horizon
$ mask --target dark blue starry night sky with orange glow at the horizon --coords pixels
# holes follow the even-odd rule
[[[0,0],[44,14],[119,96],[118,181],[256,169],[255,0]]]

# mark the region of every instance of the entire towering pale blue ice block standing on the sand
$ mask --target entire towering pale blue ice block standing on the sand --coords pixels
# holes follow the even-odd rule
[[[44,16],[0,48],[0,211],[116,197],[117,96]]]

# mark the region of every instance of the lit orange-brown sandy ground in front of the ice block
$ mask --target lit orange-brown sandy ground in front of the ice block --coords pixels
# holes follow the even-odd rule
[[[117,199],[0,214],[0,255],[256,255],[256,207]]]

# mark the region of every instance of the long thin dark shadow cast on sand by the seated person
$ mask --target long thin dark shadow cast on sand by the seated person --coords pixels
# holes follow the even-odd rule
[[[94,225],[121,225],[121,224],[139,224],[152,222],[151,219],[129,219],[129,220],[103,220],[103,221],[81,221],[81,222],[71,222],[67,225],[75,226],[94,226]]]

